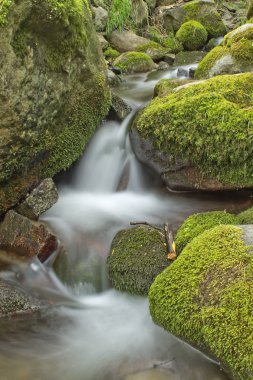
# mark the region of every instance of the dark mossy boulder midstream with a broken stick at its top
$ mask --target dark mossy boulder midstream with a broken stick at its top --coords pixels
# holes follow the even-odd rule
[[[169,264],[163,232],[135,227],[117,233],[107,259],[113,286],[121,291],[147,295],[156,276]]]

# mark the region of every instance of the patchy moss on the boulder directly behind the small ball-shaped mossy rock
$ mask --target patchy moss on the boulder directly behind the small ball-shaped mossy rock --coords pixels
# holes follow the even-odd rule
[[[199,21],[207,30],[209,37],[219,37],[226,34],[226,26],[214,8],[214,4],[207,2],[203,4],[203,1],[196,0],[185,4],[183,9],[187,14],[185,21]]]

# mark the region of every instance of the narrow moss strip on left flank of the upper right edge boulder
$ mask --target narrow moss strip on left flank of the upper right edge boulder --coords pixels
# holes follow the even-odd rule
[[[229,49],[227,47],[216,46],[199,63],[198,68],[194,75],[195,79],[208,78],[209,71],[214,67],[215,63],[229,54],[230,54]]]

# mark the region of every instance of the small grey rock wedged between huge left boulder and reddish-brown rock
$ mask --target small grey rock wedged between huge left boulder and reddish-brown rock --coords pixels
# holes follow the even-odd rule
[[[27,218],[37,220],[43,212],[49,210],[58,200],[58,192],[51,178],[44,179],[17,208],[17,212]]]

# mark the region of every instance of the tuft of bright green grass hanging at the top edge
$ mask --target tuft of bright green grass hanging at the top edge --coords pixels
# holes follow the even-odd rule
[[[115,29],[122,30],[124,28],[129,20],[131,10],[131,0],[112,0],[106,26],[107,35],[110,35]]]

